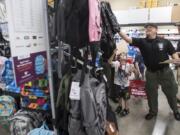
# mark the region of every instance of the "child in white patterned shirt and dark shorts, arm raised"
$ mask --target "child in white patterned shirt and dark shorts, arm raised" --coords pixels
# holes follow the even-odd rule
[[[114,90],[119,101],[119,105],[116,112],[120,116],[126,116],[129,114],[128,100],[130,99],[130,94],[128,91],[129,87],[129,77],[132,74],[132,65],[126,62],[126,53],[121,53],[116,56],[117,50],[114,51],[113,55],[109,59],[109,64],[115,68],[114,75]],[[113,61],[116,56],[116,60]],[[122,102],[124,101],[124,109]]]

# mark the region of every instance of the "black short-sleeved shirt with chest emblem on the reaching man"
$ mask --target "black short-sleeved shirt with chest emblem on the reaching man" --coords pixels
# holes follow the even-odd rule
[[[133,38],[132,46],[140,49],[147,70],[155,72],[168,67],[168,64],[159,64],[169,59],[169,55],[175,53],[171,42],[166,39]]]

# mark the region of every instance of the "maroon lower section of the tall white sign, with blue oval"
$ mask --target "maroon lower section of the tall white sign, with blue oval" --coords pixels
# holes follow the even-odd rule
[[[29,57],[13,58],[17,84],[35,80],[38,76],[47,74],[46,52],[31,53]]]

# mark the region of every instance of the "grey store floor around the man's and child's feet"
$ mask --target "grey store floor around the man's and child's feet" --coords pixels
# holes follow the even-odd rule
[[[115,110],[117,104],[112,103]],[[148,112],[147,100],[132,97],[130,100],[130,114],[118,118],[120,135],[179,135],[180,122],[174,119],[166,97],[159,90],[159,113],[156,119],[146,121]]]

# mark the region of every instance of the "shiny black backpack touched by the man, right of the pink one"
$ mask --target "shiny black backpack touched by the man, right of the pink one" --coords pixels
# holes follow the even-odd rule
[[[103,61],[107,62],[113,50],[116,48],[114,35],[120,30],[120,26],[108,2],[101,2],[101,18],[101,50],[103,51]]]

